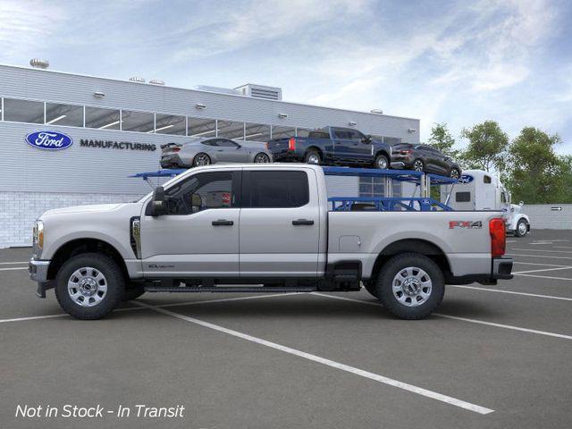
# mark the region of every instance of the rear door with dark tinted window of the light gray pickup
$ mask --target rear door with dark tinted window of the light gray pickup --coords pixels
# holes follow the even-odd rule
[[[243,171],[241,277],[315,277],[320,206],[313,170]]]

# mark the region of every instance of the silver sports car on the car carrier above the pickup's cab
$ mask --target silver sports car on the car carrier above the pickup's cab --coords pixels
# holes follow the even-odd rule
[[[190,168],[216,163],[272,163],[265,144],[231,139],[193,139],[161,146],[162,168]]]

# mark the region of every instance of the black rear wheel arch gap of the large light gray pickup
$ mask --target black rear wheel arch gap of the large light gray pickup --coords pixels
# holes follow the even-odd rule
[[[419,255],[429,257],[442,269],[445,279],[452,276],[449,259],[442,248],[428,240],[402,239],[391,242],[378,254],[375,258],[370,280],[375,281],[383,264],[400,253],[418,253]]]

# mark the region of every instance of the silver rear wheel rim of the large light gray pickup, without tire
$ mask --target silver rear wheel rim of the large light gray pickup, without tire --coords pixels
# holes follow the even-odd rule
[[[416,266],[401,269],[391,283],[393,296],[405,307],[418,307],[431,297],[433,282],[424,270]]]

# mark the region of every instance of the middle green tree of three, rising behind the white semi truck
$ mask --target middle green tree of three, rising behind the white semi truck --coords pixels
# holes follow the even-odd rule
[[[502,171],[509,147],[509,135],[501,130],[498,122],[485,121],[461,131],[468,139],[467,148],[461,154],[465,168],[478,168],[490,172]]]

